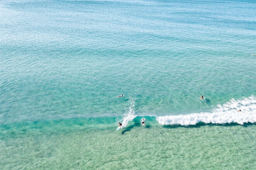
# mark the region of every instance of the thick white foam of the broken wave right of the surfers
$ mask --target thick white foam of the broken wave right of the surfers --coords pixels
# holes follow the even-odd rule
[[[238,112],[241,109],[242,112]],[[231,99],[229,102],[218,105],[218,108],[213,109],[213,112],[201,112],[187,115],[177,116],[158,116],[156,120],[161,125],[180,124],[182,126],[195,125],[198,122],[225,124],[238,123],[244,124],[247,122],[256,122],[256,97],[251,95],[242,99]]]

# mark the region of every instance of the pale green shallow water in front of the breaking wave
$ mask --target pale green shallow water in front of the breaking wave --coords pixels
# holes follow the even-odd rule
[[[12,130],[1,131],[2,169],[255,168],[255,124],[184,127],[146,120],[145,127],[135,118],[119,131],[114,119],[9,125]]]

